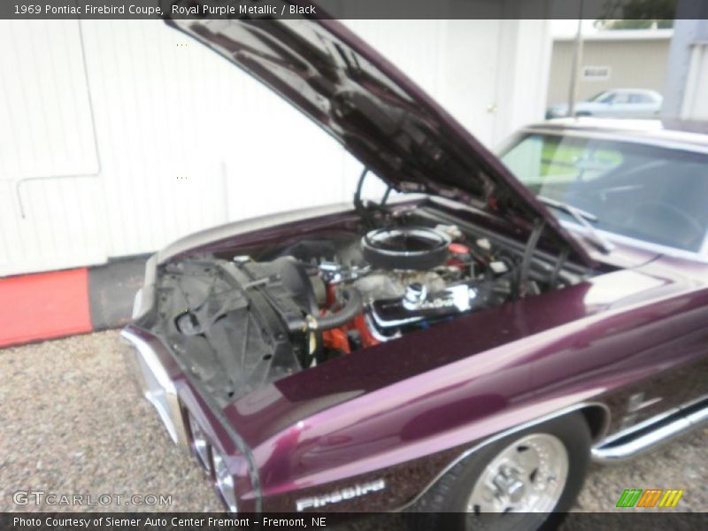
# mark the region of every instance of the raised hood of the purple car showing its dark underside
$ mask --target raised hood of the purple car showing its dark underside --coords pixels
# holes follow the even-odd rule
[[[335,20],[168,23],[286,98],[394,189],[456,199],[501,216],[528,235],[545,221],[545,242],[568,248],[576,262],[593,264],[495,155]]]

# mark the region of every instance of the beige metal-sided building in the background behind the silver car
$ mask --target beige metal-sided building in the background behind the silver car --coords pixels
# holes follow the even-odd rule
[[[673,30],[613,30],[584,37],[579,100],[607,89],[666,88],[666,65]],[[574,37],[553,42],[547,103],[565,104],[573,68]]]

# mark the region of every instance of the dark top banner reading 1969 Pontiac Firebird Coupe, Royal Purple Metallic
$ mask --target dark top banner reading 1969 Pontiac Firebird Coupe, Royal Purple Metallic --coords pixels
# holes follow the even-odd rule
[[[693,0],[3,0],[0,19],[703,19]]]

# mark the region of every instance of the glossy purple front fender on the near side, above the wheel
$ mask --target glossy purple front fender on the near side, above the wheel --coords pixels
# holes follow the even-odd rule
[[[671,389],[661,386],[675,390],[706,354],[708,291],[692,294],[673,282],[654,304],[587,304],[602,282],[597,277],[296,374],[264,390],[268,405],[248,414],[240,407],[248,397],[229,406],[228,418],[253,444],[266,500],[357,482],[352,475],[461,448],[566,406],[604,400],[634,382],[658,385],[664,407],[680,404],[686,396],[666,396]],[[666,319],[671,326],[660,326]],[[652,382],[659,374],[664,378]],[[333,407],[335,390],[346,401]],[[274,419],[301,415],[302,427],[273,433],[281,428]],[[396,492],[399,504],[412,496],[402,486]],[[266,506],[288,509],[277,499]]]

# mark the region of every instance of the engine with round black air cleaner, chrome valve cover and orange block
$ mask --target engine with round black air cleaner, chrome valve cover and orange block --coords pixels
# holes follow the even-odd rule
[[[472,312],[491,304],[495,295],[508,295],[508,283],[490,282],[487,272],[482,273],[480,260],[493,261],[483,257],[489,242],[475,242],[475,252],[462,240],[454,226],[381,228],[358,242],[360,265],[319,263],[317,276],[330,294],[324,312],[337,310],[339,290],[355,289],[362,301],[352,321],[325,333],[323,346],[358,350]],[[509,271],[503,261],[494,267],[495,276]]]

